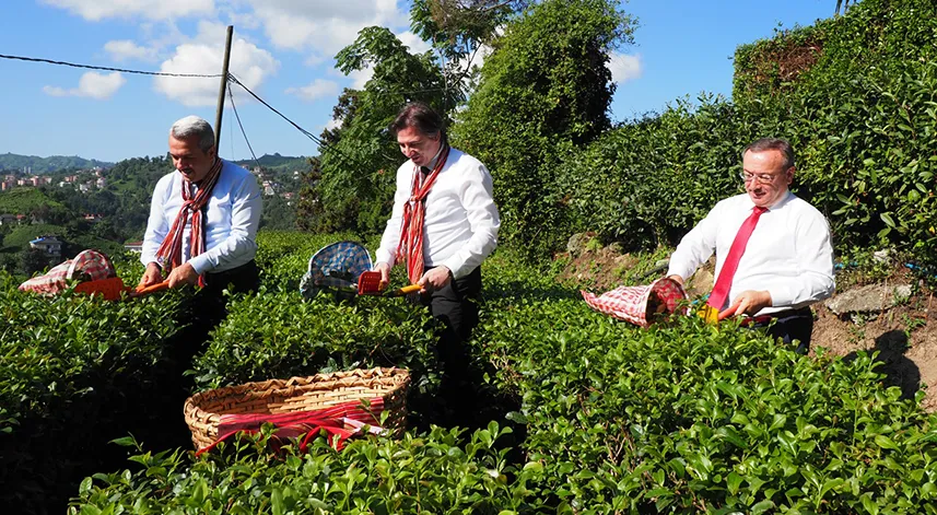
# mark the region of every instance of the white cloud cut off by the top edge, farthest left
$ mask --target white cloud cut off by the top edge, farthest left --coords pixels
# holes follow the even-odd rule
[[[40,0],[65,9],[85,20],[105,17],[137,17],[167,20],[192,14],[210,14],[213,0]]]

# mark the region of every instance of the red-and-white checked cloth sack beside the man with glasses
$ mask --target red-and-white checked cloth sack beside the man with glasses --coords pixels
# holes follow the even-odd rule
[[[683,286],[668,278],[645,286],[617,288],[598,296],[585,291],[581,293],[593,309],[641,327],[654,323],[656,315],[676,313],[680,301],[687,299]],[[682,308],[682,314],[687,313],[688,309]]]

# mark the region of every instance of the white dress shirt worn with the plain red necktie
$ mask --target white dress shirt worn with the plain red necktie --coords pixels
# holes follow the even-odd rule
[[[754,203],[748,194],[722,200],[677,246],[668,276],[689,278],[716,253],[718,280],[729,247]],[[797,308],[833,294],[833,247],[830,226],[815,207],[792,192],[761,214],[733,277],[725,309],[746,290],[766,290],[769,315]]]

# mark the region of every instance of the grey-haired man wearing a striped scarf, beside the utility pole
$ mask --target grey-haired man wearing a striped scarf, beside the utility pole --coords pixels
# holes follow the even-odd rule
[[[169,129],[176,171],[153,191],[140,260],[141,285],[164,280],[169,288],[201,283],[221,296],[230,283],[256,290],[255,237],[262,203],[256,178],[218,156],[208,121],[188,116]]]

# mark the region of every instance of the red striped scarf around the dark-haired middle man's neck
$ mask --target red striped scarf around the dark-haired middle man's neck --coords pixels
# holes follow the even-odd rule
[[[445,143],[444,143],[445,144]],[[423,277],[423,230],[426,216],[426,196],[436,183],[440,171],[449,157],[449,145],[445,144],[436,166],[425,178],[422,178],[420,167],[413,165],[413,186],[410,188],[410,200],[403,206],[403,224],[400,226],[400,243],[397,245],[397,259],[407,260],[407,277],[410,284],[415,284]]]

